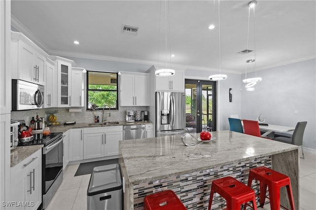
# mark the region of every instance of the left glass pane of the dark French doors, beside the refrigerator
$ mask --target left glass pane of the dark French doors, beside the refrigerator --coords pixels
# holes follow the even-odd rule
[[[197,84],[186,84],[186,127],[190,132],[197,131]]]

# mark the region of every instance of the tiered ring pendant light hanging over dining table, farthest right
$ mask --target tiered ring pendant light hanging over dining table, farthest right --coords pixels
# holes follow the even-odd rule
[[[254,36],[254,59],[249,59],[246,60],[246,63],[253,63],[256,61],[256,38],[255,38],[255,6],[257,5],[256,0],[252,0],[248,3],[248,28],[247,28],[247,49],[248,49],[248,44],[249,44],[249,22],[250,22],[250,9],[253,9],[253,36]],[[246,66],[246,74],[245,74],[245,79],[242,80],[242,82],[247,83],[245,88],[248,91],[253,91],[255,90],[253,86],[257,84],[257,82],[262,81],[261,77],[257,77],[257,71],[256,71],[256,63],[254,63],[254,68],[255,68],[255,74],[256,77],[253,78],[247,78],[247,66]]]

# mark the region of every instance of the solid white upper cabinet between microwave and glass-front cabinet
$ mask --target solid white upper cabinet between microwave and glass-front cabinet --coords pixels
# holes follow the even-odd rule
[[[46,85],[44,107],[57,107],[57,69],[55,62],[46,58]]]

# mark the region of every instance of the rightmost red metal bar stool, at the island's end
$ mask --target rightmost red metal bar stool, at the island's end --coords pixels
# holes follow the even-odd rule
[[[263,207],[266,201],[267,186],[269,187],[269,198],[271,210],[280,209],[280,188],[286,186],[288,200],[290,202],[291,210],[294,210],[294,200],[292,194],[292,187],[290,178],[284,174],[276,172],[267,167],[258,167],[250,169],[248,186],[251,187],[252,180],[260,181],[260,207]],[[283,206],[281,206],[283,207]],[[283,207],[286,209],[285,207]]]

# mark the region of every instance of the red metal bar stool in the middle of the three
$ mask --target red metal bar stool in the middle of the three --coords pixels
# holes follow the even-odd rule
[[[215,192],[226,200],[227,210],[240,210],[242,204],[257,210],[255,191],[232,177],[212,181],[208,210],[211,209]],[[248,202],[252,202],[252,206]]]

